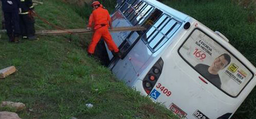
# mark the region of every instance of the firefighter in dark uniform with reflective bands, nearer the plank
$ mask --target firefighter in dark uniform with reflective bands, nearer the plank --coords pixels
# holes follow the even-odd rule
[[[20,1],[20,27],[23,39],[37,40],[35,36],[35,19],[33,17],[34,5],[32,0],[19,0]]]

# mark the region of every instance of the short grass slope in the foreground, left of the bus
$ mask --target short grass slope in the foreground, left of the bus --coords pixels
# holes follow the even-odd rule
[[[36,12],[63,28],[84,28],[74,7],[61,1],[43,1]],[[85,11],[86,12],[86,11]],[[89,11],[86,12],[89,14]],[[55,29],[36,19],[37,29]],[[18,72],[0,79],[0,101],[21,102],[21,118],[172,118],[170,110],[125,86],[100,64],[86,56],[91,35],[41,36],[38,41],[0,40],[0,69],[14,65]],[[84,44],[81,44],[84,43]],[[87,108],[91,103],[93,108]],[[0,111],[12,111],[1,108]]]

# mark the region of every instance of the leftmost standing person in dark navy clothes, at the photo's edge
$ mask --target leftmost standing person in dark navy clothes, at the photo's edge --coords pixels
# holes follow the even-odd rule
[[[10,42],[19,41],[19,5],[20,0],[0,0],[4,12],[5,27]]]

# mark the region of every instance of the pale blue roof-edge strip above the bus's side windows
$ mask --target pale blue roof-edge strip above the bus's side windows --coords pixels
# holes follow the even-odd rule
[[[175,10],[175,9],[173,9],[167,5],[164,5],[156,0],[144,0],[144,1],[148,2],[149,4],[154,5],[156,8],[158,8],[161,11],[164,11],[165,13],[175,16],[175,18],[177,18],[179,20],[185,21],[185,19],[188,17],[187,14],[182,13],[178,10]]]

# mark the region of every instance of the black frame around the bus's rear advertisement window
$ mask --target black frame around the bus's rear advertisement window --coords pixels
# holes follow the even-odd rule
[[[200,30],[201,32],[203,32],[205,35],[207,35],[207,36],[208,36],[209,38],[211,38],[212,40],[214,40],[216,43],[218,43],[223,49],[225,49],[229,54],[231,54],[237,61],[239,61],[241,64],[243,64],[243,65],[246,67],[246,69],[252,74],[252,77],[249,79],[249,81],[248,81],[248,82],[245,84],[245,86],[240,90],[240,92],[237,93],[237,95],[235,95],[235,96],[229,94],[228,92],[225,92],[224,90],[222,90],[222,89],[216,87],[216,86],[213,84],[213,86],[215,86],[216,88],[218,88],[218,89],[219,89],[220,91],[222,91],[223,93],[229,95],[230,97],[233,97],[233,98],[238,97],[239,94],[245,89],[245,87],[247,86],[247,84],[252,80],[254,74],[252,73],[251,69],[249,69],[248,66],[245,65],[240,59],[238,59],[233,53],[231,53],[230,50],[228,50],[226,47],[224,47],[222,44],[220,44],[217,40],[215,40],[212,36],[208,35],[208,34],[207,34],[206,32],[204,32],[202,29],[200,29],[200,28],[194,28],[193,31],[190,32],[189,36],[188,36],[188,37],[186,38],[186,40],[179,46],[179,48],[178,48],[178,50],[177,50],[179,56],[180,56],[189,66],[191,66],[192,69],[193,69],[195,72],[197,72],[198,74],[200,74],[201,76],[203,76],[201,73],[199,73],[197,70],[194,69],[194,66],[191,65],[191,64],[182,56],[182,54],[179,53],[180,48],[182,48],[182,46],[187,42],[187,40],[190,38],[190,36],[192,35],[192,33],[193,33],[195,30],[197,30],[197,29]],[[203,77],[204,77],[204,76],[203,76]],[[204,77],[204,78],[205,78],[205,77]],[[208,81],[207,78],[205,78],[205,79]],[[210,82],[210,81],[208,81],[208,82]],[[210,83],[211,83],[211,82],[210,82]]]

